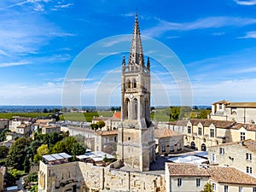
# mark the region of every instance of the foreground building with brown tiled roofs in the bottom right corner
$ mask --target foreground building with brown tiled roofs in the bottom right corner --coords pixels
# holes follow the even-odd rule
[[[166,163],[166,191],[196,192],[206,183],[212,184],[216,192],[254,192],[256,189],[256,178],[235,167]]]

